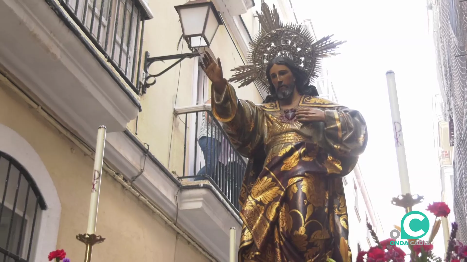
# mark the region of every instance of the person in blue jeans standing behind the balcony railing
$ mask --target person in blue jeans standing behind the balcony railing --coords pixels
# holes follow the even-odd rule
[[[206,101],[206,104],[211,104],[211,98]],[[199,130],[198,144],[203,152],[205,165],[199,169],[197,176],[208,175],[212,176],[218,167],[219,155],[221,152],[221,132],[219,126],[212,121],[211,117],[206,111],[202,112],[201,128]],[[203,180],[202,177],[195,178],[196,180]]]

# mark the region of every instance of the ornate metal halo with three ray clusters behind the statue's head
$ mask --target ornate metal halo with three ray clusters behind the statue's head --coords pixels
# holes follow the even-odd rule
[[[261,14],[256,12],[261,32],[250,42],[247,62],[251,64],[232,69],[235,73],[229,81],[240,83],[239,87],[255,82],[259,88],[269,93],[266,67],[277,56],[289,57],[297,67],[304,69],[308,81],[312,82],[318,77],[320,60],[337,55],[334,53],[335,48],[345,42],[331,40],[333,35],[315,41],[304,26],[281,22],[276,7],[272,7],[271,11],[262,1]]]

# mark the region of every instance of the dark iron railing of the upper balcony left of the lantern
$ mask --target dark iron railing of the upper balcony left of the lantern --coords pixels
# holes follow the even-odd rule
[[[130,88],[139,94],[146,16],[138,0],[60,0],[60,5]]]

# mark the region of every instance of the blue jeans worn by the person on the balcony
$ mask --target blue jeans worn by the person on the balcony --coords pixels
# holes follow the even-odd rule
[[[215,172],[216,167],[218,166],[217,163],[219,162],[219,155],[221,150],[220,141],[217,141],[214,138],[203,136],[198,139],[198,144],[199,147],[201,147],[201,151],[203,152],[203,156],[205,158],[205,166],[203,166],[196,175],[208,175],[212,177],[212,174]],[[214,147],[212,147],[212,145],[214,145]],[[202,178],[196,178],[195,180],[202,180]]]

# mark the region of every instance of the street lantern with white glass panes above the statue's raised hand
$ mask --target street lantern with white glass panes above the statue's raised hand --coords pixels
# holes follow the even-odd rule
[[[222,19],[214,4],[207,0],[194,0],[176,6],[183,38],[190,49],[209,47]]]

